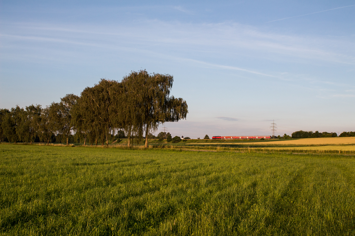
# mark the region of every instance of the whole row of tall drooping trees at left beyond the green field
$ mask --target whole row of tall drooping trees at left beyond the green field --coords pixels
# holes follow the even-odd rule
[[[67,94],[59,103],[0,109],[0,141],[101,143],[113,137],[143,139],[160,123],[186,119],[187,103],[170,96],[173,76],[132,71],[121,82],[101,79],[80,97]],[[147,135],[148,134],[148,135]],[[117,138],[118,138],[117,137]]]

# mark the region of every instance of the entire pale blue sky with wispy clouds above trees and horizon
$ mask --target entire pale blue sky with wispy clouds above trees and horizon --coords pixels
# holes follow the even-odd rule
[[[0,0],[0,108],[141,69],[187,102],[173,137],[355,131],[355,0]]]

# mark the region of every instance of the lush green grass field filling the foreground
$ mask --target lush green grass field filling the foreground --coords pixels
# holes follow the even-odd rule
[[[6,235],[355,235],[341,155],[0,145]]]

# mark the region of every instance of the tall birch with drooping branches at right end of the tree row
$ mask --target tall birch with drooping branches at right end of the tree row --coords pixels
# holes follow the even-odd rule
[[[146,70],[132,71],[122,82],[127,90],[131,114],[134,115],[133,126],[138,130],[145,128],[146,148],[149,131],[156,131],[160,123],[186,118],[186,101],[169,97],[173,86],[172,75],[148,74]]]

